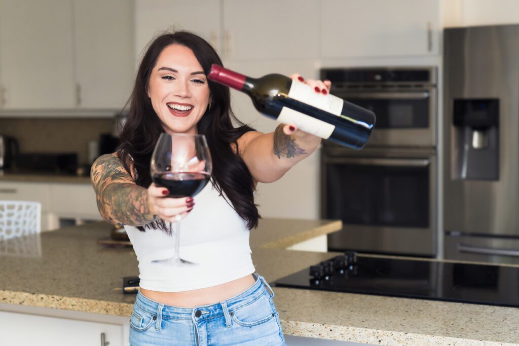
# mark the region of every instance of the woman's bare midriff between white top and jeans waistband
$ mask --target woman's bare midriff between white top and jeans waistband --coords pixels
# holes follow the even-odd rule
[[[141,288],[141,293],[152,300],[165,305],[193,308],[201,305],[212,305],[242,293],[254,284],[252,275],[226,282],[221,285],[186,290],[184,292],[158,292]]]

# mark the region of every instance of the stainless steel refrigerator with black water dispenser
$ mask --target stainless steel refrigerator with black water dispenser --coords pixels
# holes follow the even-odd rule
[[[444,35],[444,254],[519,264],[519,25]]]

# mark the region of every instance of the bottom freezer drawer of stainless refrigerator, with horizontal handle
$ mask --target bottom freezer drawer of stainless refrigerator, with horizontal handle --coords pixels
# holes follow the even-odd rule
[[[519,239],[445,235],[445,258],[519,265]]]

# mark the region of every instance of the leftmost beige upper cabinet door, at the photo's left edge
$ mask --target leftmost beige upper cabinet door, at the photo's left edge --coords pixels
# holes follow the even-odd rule
[[[4,108],[75,105],[70,0],[0,0]]]

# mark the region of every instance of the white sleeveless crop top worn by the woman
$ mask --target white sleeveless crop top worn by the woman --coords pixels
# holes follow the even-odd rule
[[[223,284],[254,272],[247,222],[211,183],[194,199],[195,207],[180,226],[180,257],[198,266],[172,267],[153,262],[172,257],[174,236],[160,229],[142,232],[125,226],[139,260],[142,288],[181,292]]]

